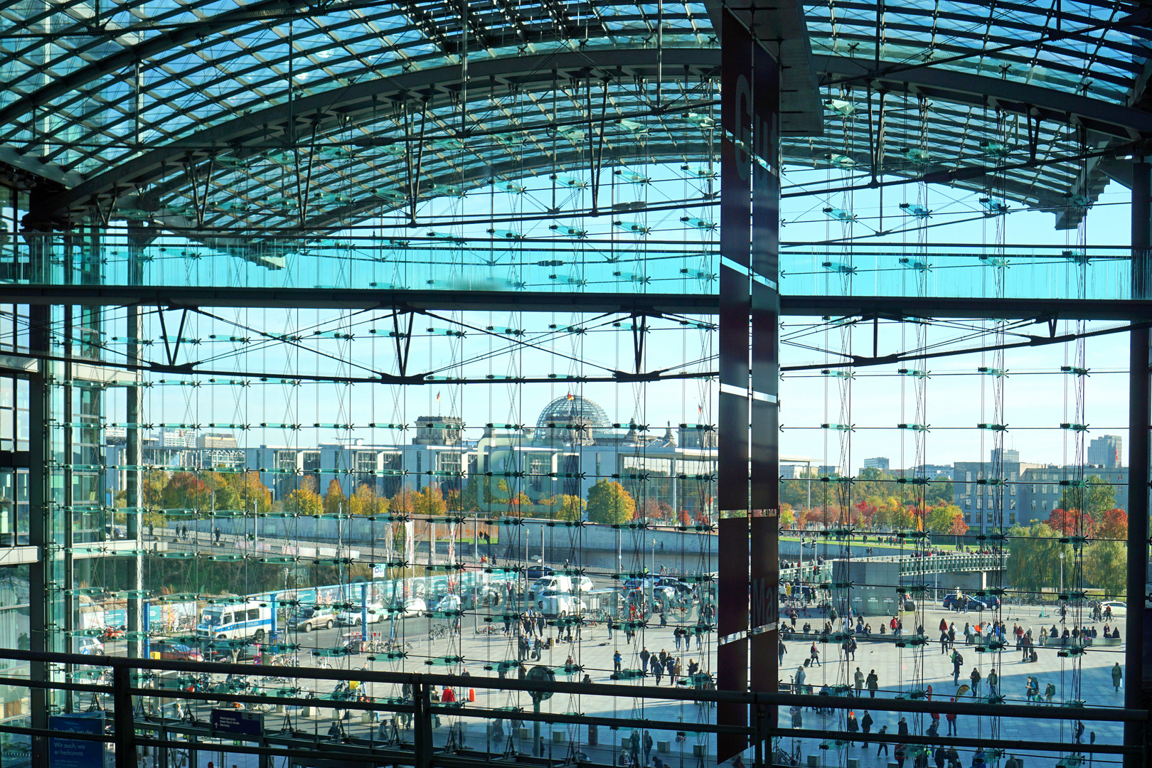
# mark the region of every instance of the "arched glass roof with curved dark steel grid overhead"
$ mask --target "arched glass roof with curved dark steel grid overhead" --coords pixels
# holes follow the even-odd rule
[[[1032,160],[998,175],[1005,197],[1083,207],[1106,178],[1060,158],[1121,137],[917,82],[946,70],[1056,104],[1137,102],[1146,43],[1120,24],[1126,5],[805,3],[824,135],[786,139],[785,165],[869,177]],[[482,0],[462,20],[418,0],[16,0],[0,24],[0,145],[89,180],[73,215],[97,204],[169,227],[323,230],[493,181],[717,151],[704,3]],[[846,62],[908,86],[870,100]]]

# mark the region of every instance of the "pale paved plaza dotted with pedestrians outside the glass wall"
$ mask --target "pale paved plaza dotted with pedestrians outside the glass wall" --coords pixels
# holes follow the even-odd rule
[[[1031,628],[1033,630],[1033,634],[1038,636],[1041,625],[1051,628],[1053,623],[1051,616],[1041,618],[1039,616],[1039,610],[1040,609],[1034,607],[1006,607],[1001,615],[1009,629],[1014,623],[1018,623],[1025,629]],[[914,616],[915,615],[905,615],[905,624],[910,624]],[[986,611],[982,616],[975,611],[971,614],[955,614],[945,613],[941,609],[929,609],[925,615],[925,625],[929,628],[938,628],[941,617],[946,617],[949,622],[956,622],[957,630],[960,630],[963,628],[965,621],[976,623],[982,621],[982,618],[991,618],[991,616],[992,614],[990,611]],[[350,670],[349,677],[353,679],[355,679],[355,672],[351,670],[365,666],[380,671],[435,672],[440,669],[447,671],[448,668],[429,667],[423,662],[426,659],[455,655],[458,653],[465,659],[464,668],[468,670],[469,675],[475,678],[483,676],[494,677],[497,676],[497,671],[494,671],[494,669],[485,669],[485,667],[494,667],[497,663],[505,660],[515,660],[517,655],[516,640],[515,638],[506,638],[502,633],[477,634],[473,628],[473,622],[469,619],[470,617],[465,616],[461,640],[429,640],[426,637],[417,636],[415,632],[408,631],[407,634],[412,639],[414,646],[409,651],[410,656],[406,660],[384,661],[378,659],[376,661],[369,661],[367,654],[361,654],[340,660],[338,666],[347,667]],[[877,626],[878,623],[884,619],[885,617],[866,617],[865,621],[869,621],[873,626]],[[408,619],[408,622],[414,621],[419,622],[422,619]],[[427,619],[423,621],[426,622]],[[814,618],[811,621],[813,624],[817,623]],[[1069,615],[1068,621],[1068,625],[1071,626],[1071,615]],[[803,619],[801,619],[799,623],[803,624]],[[820,619],[820,623],[823,624],[823,619]],[[1115,624],[1119,625],[1123,636],[1127,629],[1124,621],[1120,619],[1119,623]],[[483,621],[475,622],[475,625],[482,628],[486,626]],[[1056,622],[1056,625],[1061,626],[1059,621]],[[416,624],[416,626],[419,626],[419,624]],[[1098,624],[1098,628],[1102,629],[1102,623]],[[582,672],[571,676],[571,680],[578,682],[583,678],[583,675],[586,674],[594,683],[612,683],[611,675],[613,671],[613,654],[616,651],[619,651],[623,657],[623,669],[637,669],[641,667],[638,655],[645,647],[650,652],[654,653],[659,653],[661,649],[674,653],[675,642],[672,630],[672,626],[654,626],[646,629],[637,636],[632,644],[629,645],[621,632],[615,632],[612,641],[609,642],[607,630],[604,625],[590,629],[586,628],[582,632],[581,641],[573,644],[556,644],[552,648],[545,649],[538,663],[558,668],[562,667],[570,655],[573,660],[583,668]],[[552,634],[553,632],[554,629],[548,628],[547,633]],[[930,630],[929,636],[931,637],[932,633],[933,632]],[[796,667],[803,664],[804,659],[808,657],[810,644],[811,639],[803,641],[787,641],[787,653],[785,655],[781,670],[781,680],[783,683],[788,683],[791,675],[795,674]],[[931,686],[933,700],[948,700],[949,697],[955,694],[958,687],[958,685],[954,684],[952,679],[953,675],[952,663],[948,661],[949,656],[940,653],[939,641],[932,641],[925,648],[917,651],[911,648],[897,648],[890,640],[863,640],[859,642],[859,647],[855,653],[855,660],[844,660],[842,657],[838,659],[838,656],[842,655],[842,652],[839,646],[834,644],[818,645],[818,647],[821,652],[823,663],[819,666],[812,666],[805,670],[806,683],[812,685],[813,690],[819,690],[819,687],[825,684],[829,686],[842,684],[850,685],[857,667],[859,667],[864,675],[867,675],[871,670],[876,670],[880,687],[877,693],[877,698],[901,695],[909,691],[918,690],[922,685],[924,685]],[[960,685],[969,684],[968,677],[973,666],[979,669],[982,678],[986,680],[994,663],[992,653],[976,653],[975,648],[971,646],[964,646],[962,638],[957,641],[956,647],[964,656],[964,664],[960,676]],[[1120,661],[1121,666],[1123,666],[1123,645],[1091,647],[1084,655],[1082,661],[1083,671],[1081,680],[1081,698],[1083,698],[1089,706],[1123,706],[1123,687],[1121,686],[1120,692],[1115,692],[1112,685],[1111,675],[1111,668],[1116,661]],[[1000,677],[1000,691],[1007,704],[1026,704],[1024,689],[1025,678],[1028,676],[1034,676],[1037,678],[1041,692],[1048,683],[1052,683],[1055,686],[1056,693],[1052,698],[1053,706],[1073,698],[1073,660],[1059,656],[1058,648],[1054,647],[1037,647],[1037,654],[1038,661],[1036,663],[1022,663],[1020,661],[1021,653],[1015,651],[1011,645],[1009,645],[1008,649],[1000,654],[998,675]],[[714,648],[705,641],[703,652],[700,652],[696,649],[696,644],[694,641],[691,651],[681,651],[676,655],[679,655],[682,661],[682,667],[687,670],[689,660],[699,662],[704,656],[714,655]],[[531,661],[526,662],[529,667],[532,666],[532,663],[533,662]],[[918,664],[923,664],[922,672],[917,669]],[[712,662],[708,661],[704,669],[708,670],[711,668]],[[510,675],[514,675],[514,672]],[[560,675],[558,679],[564,679],[564,676]],[[654,687],[655,679],[652,676],[647,676],[642,680],[629,680],[628,684],[641,684]],[[661,687],[667,689],[668,684],[668,678],[665,677],[662,679]],[[380,690],[381,687],[393,690]],[[370,686],[370,690],[367,691],[367,693],[373,698],[401,695],[399,685],[376,685],[374,689],[376,690],[372,690]],[[324,689],[321,687],[321,692]],[[491,739],[491,735],[485,727],[485,722],[480,718],[470,718],[467,716],[468,706],[485,708],[523,707],[526,712],[531,712],[532,709],[531,699],[526,693],[488,692],[483,687],[476,687],[476,701],[471,705],[465,705],[462,710],[458,710],[460,714],[455,715],[455,717],[449,717],[447,714],[441,715],[441,727],[438,729],[437,737],[438,744],[444,744],[447,740],[449,728],[453,724],[460,725],[463,723],[465,725],[465,746],[477,750],[497,750],[497,744]],[[982,683],[982,694],[986,694],[986,686],[984,683]],[[468,693],[467,691],[457,691],[456,695],[457,698],[467,699]],[[869,700],[870,698],[865,691],[861,706],[855,709],[857,718],[862,720],[864,713],[869,712],[874,721],[872,727],[873,732],[878,732],[881,727],[885,725],[887,727],[888,732],[896,732],[900,716],[896,714],[869,709]],[[1032,704],[1031,706],[1045,705]],[[607,697],[574,697],[568,694],[558,694],[543,702],[541,712],[567,714],[582,713],[584,715],[609,717],[643,717],[653,722],[676,722],[689,724],[713,721],[715,709],[707,706],[700,706],[696,702],[660,702],[642,699],[613,699]],[[296,728],[323,735],[327,732],[327,729],[332,724],[332,715],[333,710],[331,708],[323,707],[318,708],[311,717],[294,716],[293,720]],[[509,715],[509,717],[514,716],[514,714]],[[803,713],[803,725],[805,729],[842,730],[844,728],[843,720],[843,710],[836,710],[836,713],[832,715],[821,715],[811,710],[805,710]],[[780,722],[783,725],[791,722],[787,712],[780,713]],[[910,732],[914,735],[923,733],[927,729],[930,722],[931,721],[927,716],[908,716],[908,725]],[[518,731],[513,728],[511,722],[502,724],[505,732],[514,739],[515,747],[521,752],[530,752],[532,750],[531,738],[521,737],[531,732],[531,723],[525,722],[523,725],[526,730]],[[1022,739],[1031,742],[1046,742],[1052,743],[1053,745],[1071,745],[1074,740],[1074,722],[1062,720],[1014,718],[994,722],[990,717],[977,717],[971,715],[961,715],[957,718],[957,735],[962,737]],[[1090,732],[1094,731],[1098,743],[1119,744],[1121,742],[1122,725],[1119,723],[1089,722],[1085,723],[1085,740],[1087,740]],[[359,736],[373,739],[380,738],[381,733],[378,724],[361,723],[358,718],[344,721],[344,732],[349,736]],[[681,766],[710,765],[714,758],[705,758],[702,761],[700,758],[694,756],[692,747],[695,744],[705,744],[705,752],[708,755],[714,755],[714,742],[711,738],[696,737],[691,732],[685,731],[685,738],[677,740],[675,731],[651,729],[653,738],[653,754],[659,756],[661,761],[668,762],[675,768],[680,768]],[[947,733],[946,721],[942,717],[940,722],[940,733]],[[570,756],[570,750],[574,747],[573,742],[576,742],[578,744],[578,748],[591,760],[597,762],[615,762],[619,760],[621,740],[628,735],[629,731],[623,729],[617,731],[609,731],[605,728],[597,729],[594,737],[592,737],[596,739],[597,745],[592,747],[589,746],[590,733],[586,725],[568,727],[546,724],[541,728],[541,736],[545,739],[546,752],[551,750],[552,756],[555,760]],[[407,738],[410,737],[410,733],[402,730],[401,736]],[[503,743],[503,747],[507,746],[508,742],[506,740]],[[661,748],[665,747],[667,748],[667,752],[661,751]],[[839,751],[834,748],[821,750],[819,748],[819,745],[812,740],[804,742],[799,739],[786,738],[782,740],[781,747],[788,752],[798,752],[801,760],[805,765],[808,763],[809,755],[816,755],[819,765],[821,766],[847,765],[844,760],[851,758],[858,759],[858,765],[862,768],[870,766],[888,768],[888,763],[892,761],[892,758],[888,755],[881,755],[878,758],[876,745],[871,747],[862,747],[857,745]],[[971,756],[971,750],[961,750],[961,758],[965,766],[970,765]],[[1025,766],[1052,766],[1055,762],[1054,753],[1040,756],[1021,752],[1017,756],[1024,761]],[[1007,758],[1007,755],[1005,755],[1005,758]],[[1107,765],[1108,759],[1105,756],[1104,760],[1097,760],[1096,762]]]

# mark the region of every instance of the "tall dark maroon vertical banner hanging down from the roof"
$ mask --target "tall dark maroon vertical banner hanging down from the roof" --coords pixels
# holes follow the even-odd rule
[[[728,10],[721,39],[717,679],[771,692],[780,674],[780,70]],[[767,714],[775,725],[775,708]],[[748,707],[718,705],[717,723],[746,725]],[[717,760],[746,747],[721,735]]]

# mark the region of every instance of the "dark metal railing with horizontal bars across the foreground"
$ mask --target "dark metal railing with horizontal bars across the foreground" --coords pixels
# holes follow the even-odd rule
[[[85,656],[77,654],[47,654],[28,651],[0,651],[0,659],[9,662],[30,662],[33,668],[70,670],[73,680],[89,683],[37,680],[6,670],[2,683],[38,692],[51,701],[52,710],[65,714],[84,712],[105,723],[101,733],[68,733],[46,728],[47,710],[33,715],[30,727],[0,724],[0,733],[22,735],[32,739],[33,766],[47,766],[43,739],[46,737],[77,740],[97,740],[114,745],[116,768],[138,768],[138,751],[157,755],[158,768],[195,766],[196,752],[211,751],[255,754],[260,765],[270,758],[289,761],[341,760],[356,763],[414,766],[416,768],[462,768],[471,765],[491,765],[493,760],[508,760],[536,765],[614,765],[615,755],[624,747],[620,743],[601,745],[598,729],[607,728],[608,735],[634,730],[653,735],[658,751],[670,751],[675,743],[684,759],[704,767],[714,763],[713,739],[719,735],[746,740],[753,750],[753,765],[788,765],[786,758],[773,752],[773,739],[789,737],[794,743],[810,743],[810,748],[829,748],[846,740],[885,742],[907,744],[915,748],[937,745],[958,748],[1032,750],[1053,753],[1064,747],[1052,742],[1003,740],[992,738],[932,737],[927,735],[900,736],[893,733],[848,733],[838,730],[791,729],[776,724],[780,707],[811,707],[825,710],[859,707],[861,701],[850,691],[836,690],[831,695],[794,693],[732,692],[710,690],[704,682],[690,685],[654,687],[637,684],[566,683],[545,674],[530,674],[526,679],[457,676],[437,674],[386,672],[366,669],[324,669],[311,667],[253,667],[248,664],[215,664],[154,659],[119,656]],[[536,668],[533,668],[535,670]],[[563,670],[566,672],[578,670]],[[229,689],[223,684],[197,684],[203,676],[243,676],[257,678]],[[197,676],[200,676],[197,678]],[[353,678],[357,685],[351,685]],[[234,678],[235,679],[235,678]],[[275,682],[273,682],[275,680]],[[402,686],[401,695],[380,695],[373,686],[391,689]],[[437,700],[441,689],[461,691],[467,701]],[[371,691],[371,694],[369,693]],[[469,695],[471,692],[478,695]],[[491,695],[526,695],[529,707],[492,706]],[[612,706],[606,714],[584,714],[578,710],[545,712],[541,704],[550,697],[602,697]],[[35,697],[33,697],[35,698]],[[85,698],[90,702],[84,705]],[[697,722],[660,720],[644,716],[616,716],[616,702],[635,712],[637,700],[649,705],[684,702],[697,708]],[[596,706],[594,699],[579,701]],[[717,724],[711,713],[717,702],[732,702],[748,708],[748,725]],[[929,701],[915,694],[905,698],[869,699],[872,712],[938,713],[947,715],[983,715],[1021,717],[1029,721],[1062,720],[1084,722],[1146,722],[1149,713],[1119,708],[1084,707],[1070,702],[1062,707],[1036,707],[1002,704],[1002,699],[971,701]],[[271,712],[270,712],[271,710]],[[319,710],[314,712],[313,710]],[[331,710],[326,717],[325,714]],[[228,717],[243,712],[243,717]],[[215,713],[215,714],[213,714]],[[222,713],[222,714],[221,714]],[[271,720],[280,721],[268,724]],[[235,721],[260,722],[258,727],[238,732]],[[350,721],[350,722],[349,722]],[[502,725],[515,725],[514,732],[501,738]],[[326,727],[325,727],[326,725]],[[479,736],[468,744],[470,727],[479,725]],[[541,729],[552,727],[553,738],[545,742]],[[499,733],[499,735],[498,735]],[[637,736],[637,739],[639,737]],[[912,748],[910,747],[910,748]],[[1079,753],[1123,754],[1138,747],[1120,744],[1076,745]],[[556,751],[562,756],[556,756]],[[670,756],[670,755],[669,755]],[[310,762],[309,762],[310,761]]]

